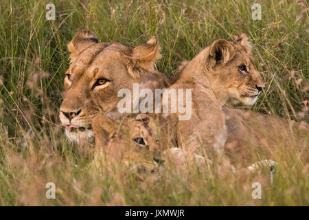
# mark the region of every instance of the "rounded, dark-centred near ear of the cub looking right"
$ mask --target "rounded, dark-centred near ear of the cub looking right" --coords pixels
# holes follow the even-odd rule
[[[231,43],[224,39],[219,39],[211,44],[209,50],[209,56],[214,59],[216,64],[223,63],[227,64],[233,56],[235,55],[235,50]]]

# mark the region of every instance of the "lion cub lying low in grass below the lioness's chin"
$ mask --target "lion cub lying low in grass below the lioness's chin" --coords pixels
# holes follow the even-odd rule
[[[153,173],[160,165],[183,170],[186,162],[198,165],[206,162],[204,157],[172,145],[161,150],[159,127],[155,120],[143,113],[118,122],[99,115],[93,120],[92,126],[97,162],[102,155],[106,155],[108,162],[122,162],[125,166],[133,166],[139,173]]]

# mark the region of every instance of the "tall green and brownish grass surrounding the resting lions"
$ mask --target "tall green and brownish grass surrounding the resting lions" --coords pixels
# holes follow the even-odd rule
[[[60,127],[67,43],[81,29],[99,41],[136,46],[158,36],[159,71],[175,74],[214,40],[247,33],[266,89],[253,111],[309,121],[308,3],[258,1],[262,20],[251,19],[254,1],[53,1],[56,21],[45,19],[50,1],[0,5],[0,205],[309,205],[308,161],[277,153],[273,184],[267,170],[254,175],[218,173],[191,164],[187,172],[153,175],[89,166],[90,146],[67,143]],[[292,73],[292,74],[291,74]],[[239,108],[248,108],[239,106]],[[189,164],[190,165],[190,164]],[[56,184],[56,199],[45,184]],[[260,181],[262,199],[252,199]]]

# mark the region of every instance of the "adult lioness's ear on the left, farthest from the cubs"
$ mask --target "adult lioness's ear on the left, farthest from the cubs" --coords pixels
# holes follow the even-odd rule
[[[81,30],[72,39],[72,41],[67,45],[69,52],[71,52],[71,62],[76,61],[78,54],[87,47],[98,43],[97,36],[90,32],[89,30]]]

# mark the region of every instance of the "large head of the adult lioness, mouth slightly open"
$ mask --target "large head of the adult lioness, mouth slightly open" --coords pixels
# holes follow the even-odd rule
[[[119,89],[132,91],[133,83],[150,85],[149,81],[155,82],[153,87],[165,87],[165,76],[154,69],[160,58],[155,37],[132,48],[120,43],[98,43],[95,34],[81,31],[68,48],[71,65],[65,76],[60,120],[71,141],[93,137],[93,118],[117,111]]]

